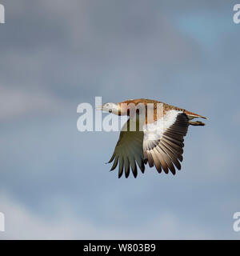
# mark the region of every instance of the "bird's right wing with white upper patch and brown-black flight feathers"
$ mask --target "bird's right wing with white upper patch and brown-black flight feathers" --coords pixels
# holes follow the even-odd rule
[[[143,155],[149,166],[155,166],[159,173],[169,170],[176,173],[181,169],[183,141],[189,126],[189,119],[182,111],[170,110],[158,121],[143,127]],[[180,162],[179,162],[180,161]]]

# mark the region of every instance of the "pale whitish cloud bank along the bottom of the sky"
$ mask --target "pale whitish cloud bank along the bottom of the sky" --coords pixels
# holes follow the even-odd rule
[[[166,212],[138,226],[94,225],[82,219],[70,206],[59,206],[58,216],[41,217],[6,194],[0,197],[0,210],[5,214],[6,232],[2,239],[185,239],[211,238],[209,230],[196,230],[178,217]]]

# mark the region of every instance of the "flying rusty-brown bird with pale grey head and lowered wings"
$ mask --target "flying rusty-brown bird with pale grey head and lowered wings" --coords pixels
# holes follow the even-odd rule
[[[100,109],[129,116],[122,126],[109,161],[114,162],[111,170],[118,166],[118,178],[122,177],[123,171],[128,178],[130,169],[136,178],[138,167],[144,173],[147,163],[150,167],[155,166],[158,173],[163,170],[168,174],[170,170],[176,174],[175,168],[181,170],[183,142],[188,126],[205,126],[203,122],[191,121],[194,118],[205,118],[202,115],[145,98],[108,102]],[[135,129],[131,129],[131,124],[134,124]]]

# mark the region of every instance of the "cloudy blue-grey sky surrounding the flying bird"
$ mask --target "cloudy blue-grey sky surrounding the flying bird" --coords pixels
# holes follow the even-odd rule
[[[0,0],[0,239],[239,239],[238,1]],[[182,170],[118,179],[118,132],[78,104],[152,98],[207,116]]]

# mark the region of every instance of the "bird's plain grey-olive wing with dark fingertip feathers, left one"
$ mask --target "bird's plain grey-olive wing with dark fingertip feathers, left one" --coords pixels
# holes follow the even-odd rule
[[[128,178],[130,168],[133,171],[134,178],[136,178],[138,175],[136,162],[140,170],[142,170],[142,173],[144,173],[145,170],[142,150],[143,131],[130,131],[129,126],[130,120],[122,126],[114,154],[109,161],[114,161],[111,170],[114,170],[118,166],[118,178],[121,178],[123,169],[125,170],[126,178]]]

